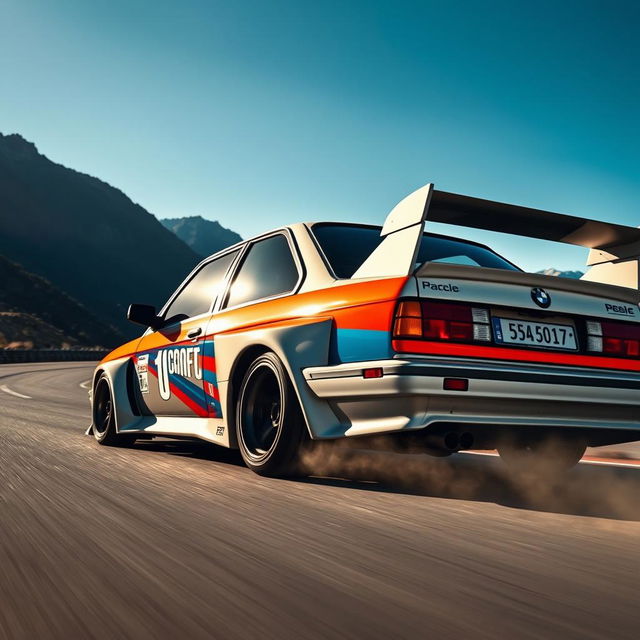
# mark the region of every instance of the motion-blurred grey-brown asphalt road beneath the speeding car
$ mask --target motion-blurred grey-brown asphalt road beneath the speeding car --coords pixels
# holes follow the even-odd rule
[[[264,479],[209,445],[100,447],[91,369],[0,366],[2,638],[640,633],[640,469],[521,485],[336,450],[333,478]]]

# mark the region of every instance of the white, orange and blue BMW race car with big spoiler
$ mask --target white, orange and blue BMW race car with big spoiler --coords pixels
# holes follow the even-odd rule
[[[526,273],[430,221],[588,247],[596,266]],[[640,229],[432,184],[382,227],[276,229],[203,260],[159,312],[129,307],[145,331],[97,366],[89,431],[200,438],[268,476],[316,441],[373,436],[568,469],[640,439],[638,256]]]

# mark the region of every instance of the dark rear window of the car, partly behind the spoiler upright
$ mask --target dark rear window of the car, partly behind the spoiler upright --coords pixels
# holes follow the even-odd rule
[[[382,242],[381,227],[348,224],[316,224],[313,234],[338,278],[350,278]],[[487,247],[425,233],[418,250],[418,264],[449,262],[492,269],[519,269]]]

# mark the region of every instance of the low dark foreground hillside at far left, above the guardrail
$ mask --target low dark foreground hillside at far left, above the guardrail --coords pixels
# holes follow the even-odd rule
[[[101,322],[81,304],[41,276],[0,256],[0,333],[4,342],[34,341],[36,346],[113,345],[124,341],[115,328]]]

